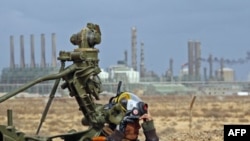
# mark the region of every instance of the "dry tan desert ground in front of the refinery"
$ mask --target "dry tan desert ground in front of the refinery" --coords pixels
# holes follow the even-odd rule
[[[250,124],[250,96],[140,96],[148,103],[160,141],[222,141],[225,124]],[[194,98],[195,97],[195,98]],[[100,96],[105,104],[109,96]],[[48,97],[15,98],[0,103],[0,124],[7,124],[7,109],[13,124],[26,134],[35,134]],[[193,103],[192,103],[193,101]],[[87,127],[74,98],[55,97],[40,135],[61,134]],[[144,140],[140,131],[140,140]]]

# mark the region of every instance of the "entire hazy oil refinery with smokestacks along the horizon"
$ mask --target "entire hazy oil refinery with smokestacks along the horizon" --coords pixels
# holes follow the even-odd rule
[[[14,36],[10,36],[10,65],[1,70],[0,93],[9,92],[21,85],[32,81],[34,78],[58,72],[56,53],[56,34],[51,34],[51,61],[46,60],[45,34],[41,34],[41,62],[35,60],[34,35],[30,35],[30,63],[25,62],[27,45],[24,45],[24,36],[20,35],[20,64],[15,62]],[[179,74],[174,75],[174,58],[169,59],[169,67],[164,75],[157,75],[145,67],[144,43],[137,46],[137,30],[131,28],[131,63],[128,62],[128,51],[124,51],[124,59],[108,68],[102,68],[99,74],[104,91],[115,92],[116,84],[123,81],[124,89],[140,91],[142,94],[207,94],[207,95],[232,95],[240,91],[250,91],[248,82],[236,82],[235,70],[225,64],[237,63],[228,59],[213,57],[212,54],[204,59],[202,57],[202,44],[197,40],[187,41],[187,63],[181,66]],[[139,61],[137,60],[139,50]],[[247,57],[248,59],[249,57]],[[47,62],[46,62],[47,61]],[[242,60],[238,60],[240,62]],[[49,62],[49,63],[48,63]],[[202,63],[209,67],[202,69]],[[219,63],[219,68],[214,70],[214,63]],[[167,64],[165,64],[167,66]],[[27,90],[28,93],[48,94],[52,88],[52,81],[43,82]],[[60,90],[60,89],[59,89]],[[60,93],[63,93],[61,91]]]

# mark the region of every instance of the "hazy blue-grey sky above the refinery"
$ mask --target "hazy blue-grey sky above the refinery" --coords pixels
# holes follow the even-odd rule
[[[174,60],[174,74],[187,62],[188,40],[201,42],[201,56],[212,54],[230,61],[245,59],[250,51],[249,0],[1,0],[0,69],[10,64],[10,35],[15,40],[15,63],[20,64],[19,36],[24,35],[25,63],[30,63],[30,34],[35,36],[36,62],[41,61],[40,35],[46,38],[46,62],[51,61],[51,34],[56,33],[57,52],[71,51],[73,33],[87,22],[100,25],[100,67],[124,59],[131,64],[131,28],[137,28],[137,56],[144,42],[145,67],[159,75]],[[246,80],[249,62],[225,65],[238,80]],[[208,68],[207,62],[202,62]],[[218,63],[214,64],[218,69]]]

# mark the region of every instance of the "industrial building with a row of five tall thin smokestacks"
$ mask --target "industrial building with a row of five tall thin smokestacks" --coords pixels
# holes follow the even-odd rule
[[[0,80],[0,92],[9,92],[23,84],[26,84],[34,79],[46,76],[48,74],[55,74],[58,72],[56,60],[56,35],[51,34],[51,46],[52,46],[52,60],[50,63],[46,62],[45,54],[45,35],[41,34],[41,63],[35,61],[35,43],[34,35],[30,35],[30,63],[25,62],[25,44],[24,35],[20,35],[20,65],[15,63],[15,49],[14,49],[14,36],[10,36],[10,66],[2,70]],[[32,88],[27,89],[30,93],[48,94],[52,88],[53,80],[45,81],[39,85],[35,85]]]

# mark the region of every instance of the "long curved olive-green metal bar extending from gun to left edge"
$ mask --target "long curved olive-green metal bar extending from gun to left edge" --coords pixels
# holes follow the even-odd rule
[[[37,84],[37,83],[40,83],[40,82],[43,82],[43,81],[48,81],[48,80],[54,80],[54,79],[59,79],[59,78],[62,78],[63,76],[75,71],[75,69],[77,68],[76,65],[71,65],[70,67],[68,67],[67,69],[63,70],[62,72],[59,72],[57,74],[50,74],[50,75],[47,75],[47,76],[43,76],[43,77],[39,77],[27,84],[24,84],[23,86],[21,86],[20,88],[10,92],[10,93],[7,93],[6,95],[3,95],[0,97],[0,103],[17,95],[18,93],[32,87],[33,85]]]

